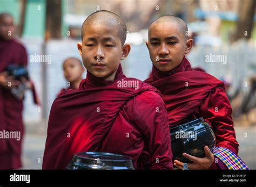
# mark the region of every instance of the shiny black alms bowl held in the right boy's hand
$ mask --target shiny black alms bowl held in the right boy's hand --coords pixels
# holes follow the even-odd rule
[[[203,118],[189,121],[170,129],[173,161],[191,163],[182,154],[187,153],[196,157],[204,157],[204,147],[214,149],[216,138],[210,125]]]

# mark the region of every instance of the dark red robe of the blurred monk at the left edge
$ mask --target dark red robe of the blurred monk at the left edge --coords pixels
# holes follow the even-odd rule
[[[0,39],[0,72],[9,64],[27,66],[26,49],[16,40]],[[36,100],[35,89],[33,97]],[[0,139],[0,169],[22,167],[21,148],[24,134],[22,121],[23,100],[16,99],[9,90],[0,86],[0,131],[21,133],[21,139]]]

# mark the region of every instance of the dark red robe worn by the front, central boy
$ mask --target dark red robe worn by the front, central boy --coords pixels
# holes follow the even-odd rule
[[[138,89],[119,81],[138,81]],[[172,169],[167,112],[159,91],[123,75],[113,82],[87,72],[79,90],[63,91],[52,104],[43,169],[65,169],[77,152],[130,156],[136,169]]]

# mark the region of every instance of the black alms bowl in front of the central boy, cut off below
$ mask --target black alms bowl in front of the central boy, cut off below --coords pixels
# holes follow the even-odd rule
[[[67,169],[134,169],[132,160],[124,155],[103,152],[80,152],[73,155]]]

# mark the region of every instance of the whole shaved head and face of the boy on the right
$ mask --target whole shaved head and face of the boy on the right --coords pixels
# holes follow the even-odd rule
[[[171,71],[190,52],[193,39],[187,37],[187,24],[176,16],[162,16],[149,27],[146,41],[153,65],[160,71]]]

